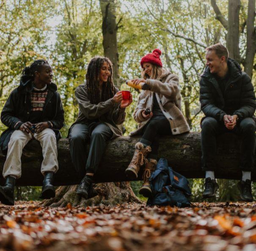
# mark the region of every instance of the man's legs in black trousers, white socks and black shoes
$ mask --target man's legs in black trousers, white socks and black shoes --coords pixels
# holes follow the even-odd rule
[[[235,133],[242,138],[240,168],[242,170],[242,181],[239,181],[238,188],[241,199],[252,201],[251,178],[253,170],[254,152],[256,146],[255,130],[256,124],[253,118],[245,118],[237,121],[233,130],[228,130],[223,121],[217,121],[212,117],[206,117],[202,122],[201,147],[202,147],[202,168],[206,171],[205,190],[203,197],[213,197],[218,189],[215,181],[215,157],[217,151],[216,137],[225,132]]]

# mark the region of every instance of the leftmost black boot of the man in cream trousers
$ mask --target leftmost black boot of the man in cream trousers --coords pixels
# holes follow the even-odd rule
[[[0,202],[5,205],[14,205],[14,187],[16,179],[7,176],[5,186],[0,186]]]

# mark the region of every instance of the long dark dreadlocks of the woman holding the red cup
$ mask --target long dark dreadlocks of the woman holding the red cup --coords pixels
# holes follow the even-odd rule
[[[106,84],[102,86],[102,97],[100,99],[99,91],[99,73],[103,63],[106,62],[110,66],[110,76],[107,78]],[[92,104],[98,104],[106,101],[115,94],[115,86],[112,79],[112,62],[107,57],[94,57],[88,64],[87,73],[85,75],[88,88],[89,99]]]

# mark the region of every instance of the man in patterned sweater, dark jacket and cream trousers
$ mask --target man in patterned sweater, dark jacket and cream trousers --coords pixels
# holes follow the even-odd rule
[[[40,142],[43,151],[41,173],[44,175],[42,199],[55,197],[53,174],[58,170],[57,143],[63,127],[64,111],[57,86],[52,83],[52,67],[39,59],[22,71],[15,88],[1,112],[1,121],[8,129],[0,136],[0,148],[7,152],[3,167],[5,186],[0,186],[0,202],[14,205],[14,186],[21,176],[21,155],[31,140]]]

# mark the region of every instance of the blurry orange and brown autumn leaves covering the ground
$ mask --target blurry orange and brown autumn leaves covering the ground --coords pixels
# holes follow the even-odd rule
[[[203,202],[179,209],[1,204],[0,250],[250,251],[256,249],[255,205]]]

